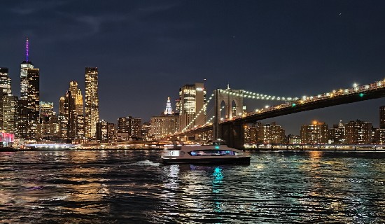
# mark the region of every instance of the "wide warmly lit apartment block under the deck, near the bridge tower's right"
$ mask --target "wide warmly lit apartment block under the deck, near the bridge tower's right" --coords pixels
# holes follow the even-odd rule
[[[285,142],[285,130],[275,122],[266,125],[258,123],[256,132],[256,141],[260,144],[283,144]]]

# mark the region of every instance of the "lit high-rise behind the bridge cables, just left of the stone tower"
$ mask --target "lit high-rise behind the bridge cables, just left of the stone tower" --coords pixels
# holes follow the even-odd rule
[[[203,83],[184,85],[179,89],[181,130],[206,123],[206,90]],[[197,116],[197,118],[195,118]]]

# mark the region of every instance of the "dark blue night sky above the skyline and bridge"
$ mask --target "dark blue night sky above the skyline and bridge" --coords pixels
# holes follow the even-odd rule
[[[149,121],[179,87],[282,97],[316,95],[385,78],[385,1],[2,1],[0,66],[20,94],[20,63],[40,69],[41,100],[54,102],[85,66],[99,68],[100,118]],[[248,102],[248,110],[273,102]],[[279,118],[286,134],[320,120],[379,123],[385,99]],[[174,109],[174,104],[172,105]]]

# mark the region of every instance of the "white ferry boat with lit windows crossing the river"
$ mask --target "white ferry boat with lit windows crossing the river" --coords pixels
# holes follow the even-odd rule
[[[181,146],[165,151],[162,162],[168,164],[250,164],[250,155],[229,148],[226,141],[217,139],[202,146]]]

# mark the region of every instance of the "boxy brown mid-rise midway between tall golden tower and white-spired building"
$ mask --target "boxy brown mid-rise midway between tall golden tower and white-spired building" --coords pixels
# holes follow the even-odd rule
[[[118,118],[118,140],[133,141],[141,137],[141,118]]]

